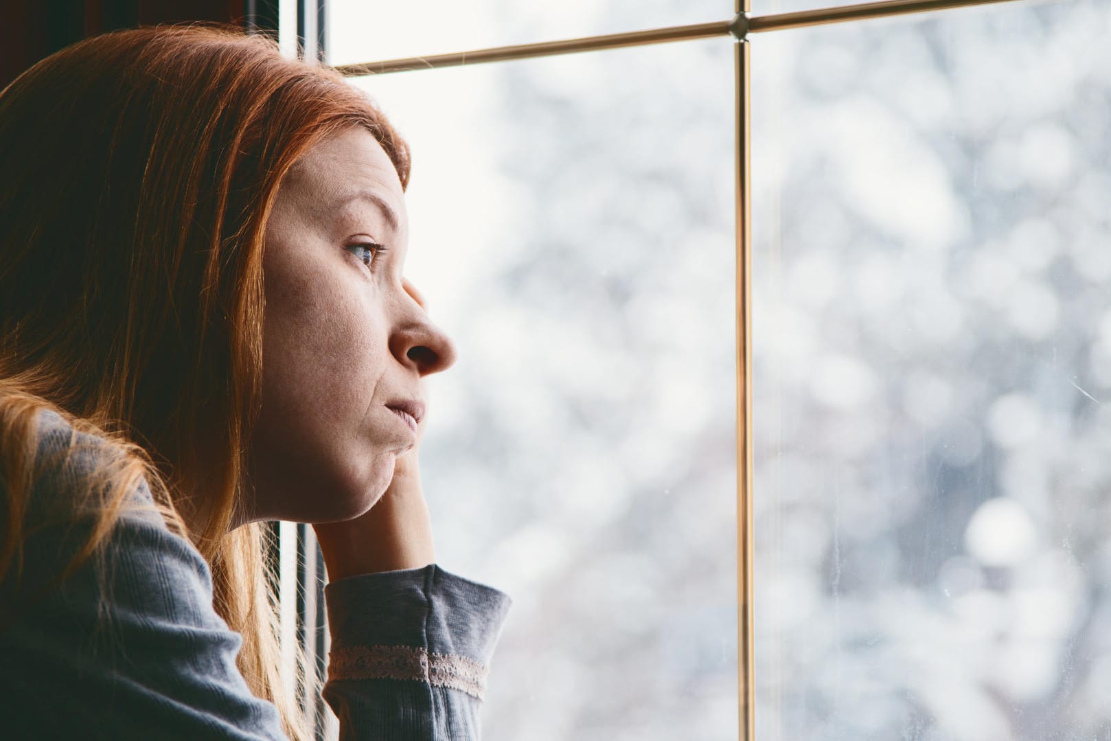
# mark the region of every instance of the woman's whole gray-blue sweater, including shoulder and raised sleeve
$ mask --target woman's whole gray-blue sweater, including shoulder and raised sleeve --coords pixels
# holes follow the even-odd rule
[[[70,428],[54,414],[40,420],[40,455],[60,450]],[[127,514],[113,530],[108,590],[86,563],[61,588],[28,599],[29,585],[57,574],[89,532],[89,521],[38,517],[80,468],[34,482],[22,588],[10,571],[0,578],[0,738],[284,739],[277,708],[236,667],[242,637],[212,608],[208,563],[160,517]],[[146,485],[136,497],[150,501]],[[0,533],[6,524],[2,497]],[[508,595],[432,564],[348,577],[329,583],[324,599],[331,652],[322,694],[341,739],[479,738]],[[92,632],[101,600],[107,637]]]

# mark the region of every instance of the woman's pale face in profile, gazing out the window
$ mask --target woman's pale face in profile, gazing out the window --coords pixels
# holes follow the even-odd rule
[[[456,351],[401,277],[408,238],[397,171],[362,129],[314,146],[283,181],[262,256],[249,521],[358,517],[417,444],[391,407],[424,403],[421,379]]]

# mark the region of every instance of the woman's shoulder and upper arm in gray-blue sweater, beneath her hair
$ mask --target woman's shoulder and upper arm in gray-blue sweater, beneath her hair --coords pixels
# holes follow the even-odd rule
[[[58,415],[41,422],[47,464],[36,494],[60,498],[116,455]],[[151,501],[144,482],[133,498]],[[208,563],[157,512],[122,511],[103,540],[103,565],[89,559],[54,583],[98,523],[89,515],[36,523],[24,542],[30,587],[12,590],[0,578],[0,608],[14,608],[0,621],[12,738],[99,738],[90,731],[99,728],[118,739],[283,738],[277,709],[239,672],[242,637],[213,609]]]

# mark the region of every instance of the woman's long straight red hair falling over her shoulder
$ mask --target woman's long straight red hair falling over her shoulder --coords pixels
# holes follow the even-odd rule
[[[100,524],[67,573],[146,477],[211,567],[248,685],[294,738],[263,531],[229,527],[261,398],[267,218],[306,150],[350,127],[407,187],[408,147],[371,100],[230,27],[87,39],[0,92],[0,577],[20,563],[33,419],[51,409],[121,452],[110,485],[88,487]]]

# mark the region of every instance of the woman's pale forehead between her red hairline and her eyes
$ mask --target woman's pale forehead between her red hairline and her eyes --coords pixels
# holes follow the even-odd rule
[[[317,142],[282,183],[290,199],[313,216],[371,209],[394,231],[404,227],[404,191],[389,156],[363,129],[349,129]]]

